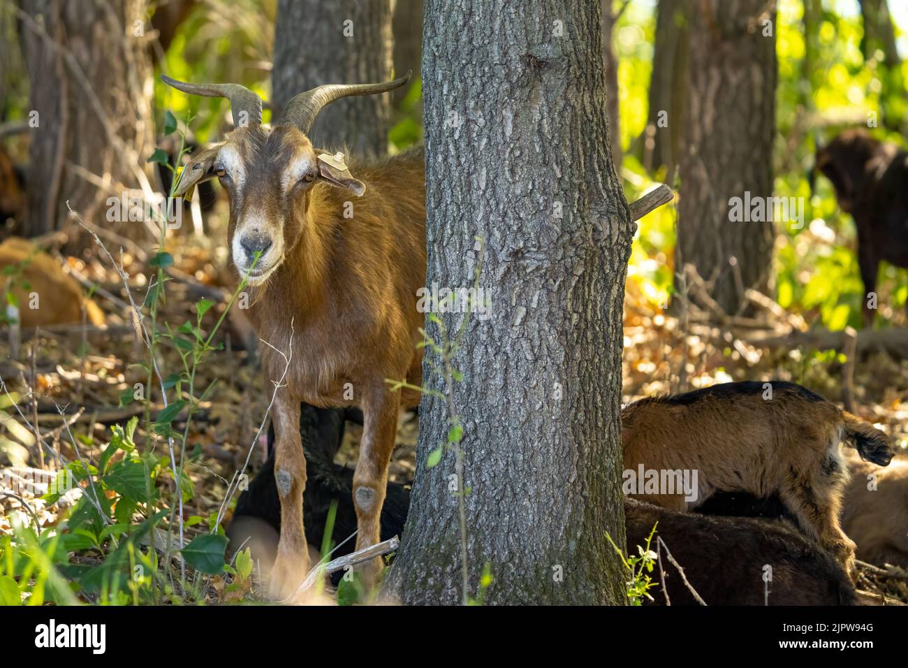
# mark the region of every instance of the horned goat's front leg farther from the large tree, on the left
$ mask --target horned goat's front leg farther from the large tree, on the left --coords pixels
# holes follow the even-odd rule
[[[281,498],[281,540],[271,572],[271,597],[287,598],[309,571],[309,553],[302,523],[306,489],[306,456],[300,438],[300,403],[283,395],[274,401],[274,484]]]

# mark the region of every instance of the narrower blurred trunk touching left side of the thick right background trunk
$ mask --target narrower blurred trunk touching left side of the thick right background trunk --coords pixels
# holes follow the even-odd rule
[[[684,0],[659,0],[642,158],[648,172],[665,166],[669,184],[675,180],[684,128],[687,40]]]

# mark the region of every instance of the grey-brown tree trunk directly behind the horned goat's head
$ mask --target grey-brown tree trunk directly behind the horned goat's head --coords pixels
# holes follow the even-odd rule
[[[317,85],[388,81],[390,0],[279,0],[273,60],[276,115],[293,95]],[[390,95],[346,97],[325,107],[310,139],[320,148],[384,155],[389,122]]]

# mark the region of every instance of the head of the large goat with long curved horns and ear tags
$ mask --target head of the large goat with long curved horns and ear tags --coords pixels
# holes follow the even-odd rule
[[[218,177],[230,195],[228,244],[232,264],[252,285],[263,284],[300,241],[315,184],[346,188],[357,196],[365,184],[354,178],[342,156],[322,154],[309,137],[325,105],[350,95],[385,93],[405,85],[410,72],[382,84],[321,85],[296,95],[281,121],[262,125],[262,99],[238,84],[185,84],[163,76],[168,85],[192,95],[230,100],[234,129],[222,144],[192,155],[175,195]],[[258,261],[252,267],[255,256]],[[250,271],[252,267],[252,271]]]

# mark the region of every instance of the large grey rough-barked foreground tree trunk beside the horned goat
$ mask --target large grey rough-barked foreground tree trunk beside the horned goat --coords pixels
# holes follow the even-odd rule
[[[490,301],[488,319],[469,318],[450,397],[463,427],[467,593],[484,603],[627,601],[607,534],[623,546],[622,302],[634,225],[608,150],[600,9],[425,6],[427,285],[469,287],[481,260]],[[439,317],[454,332],[465,316]],[[439,337],[428,316],[427,328]],[[443,391],[433,363],[427,348],[424,383]],[[446,401],[423,394],[410,517],[387,583],[404,603],[463,593],[455,452],[428,465],[448,441],[448,415]]]

